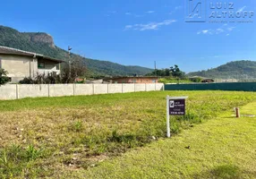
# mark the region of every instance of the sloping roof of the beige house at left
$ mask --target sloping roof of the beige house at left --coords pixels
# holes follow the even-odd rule
[[[55,59],[46,55],[41,55],[41,54],[37,54],[37,53],[33,53],[33,52],[28,52],[28,51],[24,51],[24,50],[20,50],[20,49],[16,49],[13,47],[4,47],[4,46],[0,46],[0,54],[4,54],[4,55],[24,55],[24,56],[35,56],[35,57],[41,57],[43,59],[46,60],[51,60],[51,61],[55,61],[55,62],[64,62],[63,60],[59,60],[59,59]]]

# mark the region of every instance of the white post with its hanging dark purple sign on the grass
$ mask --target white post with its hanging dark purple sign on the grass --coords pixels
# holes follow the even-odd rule
[[[185,99],[188,97],[166,97],[166,136],[171,137],[170,115],[185,115]]]

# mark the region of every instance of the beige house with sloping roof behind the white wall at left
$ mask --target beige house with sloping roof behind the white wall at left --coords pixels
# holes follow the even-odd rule
[[[19,82],[25,77],[34,78],[37,73],[58,74],[62,62],[45,55],[0,46],[0,68],[8,72],[12,82]]]

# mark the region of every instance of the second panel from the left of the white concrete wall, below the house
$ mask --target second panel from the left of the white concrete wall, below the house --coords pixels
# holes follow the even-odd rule
[[[0,88],[1,89],[1,88]],[[18,85],[19,98],[48,97],[47,84],[20,84]]]

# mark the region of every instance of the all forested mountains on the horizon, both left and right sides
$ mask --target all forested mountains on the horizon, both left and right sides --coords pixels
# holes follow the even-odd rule
[[[55,46],[54,38],[44,32],[20,32],[13,28],[0,26],[0,46],[18,48],[65,61],[69,60],[68,52]],[[71,58],[81,59],[88,67],[87,76],[92,77],[145,75],[154,71],[141,66],[125,66],[76,54],[71,54]],[[213,79],[256,79],[256,62],[235,61],[206,71],[190,72],[187,75]]]

